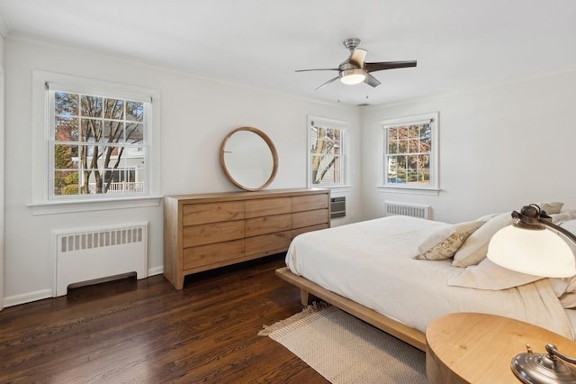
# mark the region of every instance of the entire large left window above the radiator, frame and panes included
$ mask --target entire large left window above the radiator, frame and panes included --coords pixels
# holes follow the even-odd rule
[[[30,206],[157,198],[159,92],[42,71],[33,84]]]

